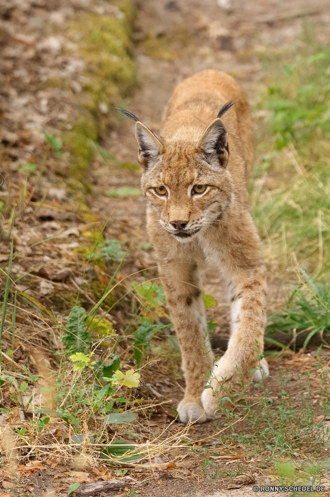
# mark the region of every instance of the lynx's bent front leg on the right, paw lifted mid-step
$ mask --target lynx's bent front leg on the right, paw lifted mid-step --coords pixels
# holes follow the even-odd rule
[[[229,294],[232,314],[232,336],[226,353],[215,364],[212,389],[202,394],[202,403],[206,414],[214,417],[219,409],[219,399],[228,387],[235,389],[235,384],[242,374],[243,383],[247,383],[248,371],[257,367],[258,352],[263,350],[263,332],[265,326],[265,268],[259,266],[251,270],[237,270],[228,274]],[[255,350],[255,341],[259,350]],[[268,372],[266,361],[262,370]],[[257,373],[257,372],[256,372]],[[260,375],[261,376],[261,373]],[[226,381],[223,381],[226,378]],[[257,379],[257,378],[256,378]],[[258,379],[257,379],[258,380]],[[224,390],[221,392],[221,385]],[[216,395],[213,392],[216,392]]]

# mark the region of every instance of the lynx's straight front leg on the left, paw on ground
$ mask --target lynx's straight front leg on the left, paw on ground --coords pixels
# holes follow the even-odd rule
[[[181,422],[203,423],[208,418],[201,403],[204,374],[213,367],[206,343],[207,324],[201,282],[195,263],[173,262],[160,267],[167,304],[180,344],[186,391],[178,405]]]

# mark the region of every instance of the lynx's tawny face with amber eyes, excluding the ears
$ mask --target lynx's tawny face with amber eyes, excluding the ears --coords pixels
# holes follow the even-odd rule
[[[233,188],[225,167],[211,166],[193,146],[175,148],[147,168],[142,188],[160,227],[185,242],[222,219]]]

